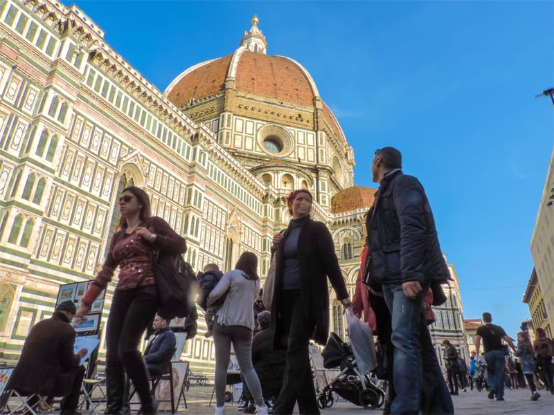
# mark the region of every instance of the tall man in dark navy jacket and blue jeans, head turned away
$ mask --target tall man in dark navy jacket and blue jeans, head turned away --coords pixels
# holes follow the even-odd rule
[[[396,391],[391,414],[417,414],[420,409],[424,414],[453,414],[423,316],[429,287],[438,300],[444,295],[440,283],[449,279],[429,201],[418,179],[402,173],[397,149],[375,151],[371,172],[380,186],[366,219],[366,243],[370,278],[382,285],[391,311]]]

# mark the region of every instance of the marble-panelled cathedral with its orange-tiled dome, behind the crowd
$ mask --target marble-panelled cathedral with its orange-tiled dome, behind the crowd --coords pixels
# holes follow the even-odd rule
[[[310,73],[267,55],[255,18],[234,53],[161,92],[103,36],[75,6],[0,0],[0,360],[17,359],[60,284],[93,279],[130,184],[187,240],[195,270],[229,270],[250,250],[262,277],[287,194],[307,188],[352,294],[375,190],[354,185],[352,147]],[[447,304],[440,335],[454,333],[459,292]],[[330,307],[345,338],[341,306]],[[202,313],[198,322],[202,333]],[[197,335],[183,357],[212,371],[212,340]]]

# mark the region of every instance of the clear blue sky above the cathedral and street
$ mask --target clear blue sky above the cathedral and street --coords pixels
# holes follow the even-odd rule
[[[269,55],[300,62],[375,187],[392,145],[420,178],[464,318],[515,338],[529,244],[554,144],[553,1],[76,1],[111,48],[161,91],[233,53],[256,13]],[[65,3],[69,6],[69,3]]]

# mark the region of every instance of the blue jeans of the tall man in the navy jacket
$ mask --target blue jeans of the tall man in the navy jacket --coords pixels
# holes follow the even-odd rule
[[[397,394],[391,404],[391,414],[418,414],[420,409],[424,414],[454,414],[452,398],[422,313],[427,289],[415,299],[409,299],[402,291],[402,284],[383,285],[385,302],[391,311],[393,385]]]

